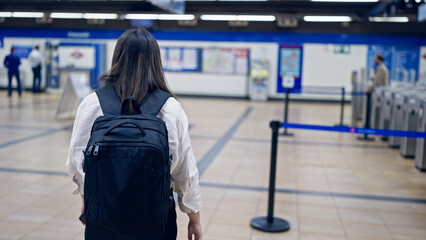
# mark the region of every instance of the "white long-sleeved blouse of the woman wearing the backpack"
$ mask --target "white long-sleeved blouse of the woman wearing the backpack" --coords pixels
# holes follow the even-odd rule
[[[74,194],[84,193],[83,151],[89,142],[93,123],[99,116],[103,116],[102,108],[98,96],[92,93],[78,107],[66,163],[68,175],[78,186]],[[185,213],[196,213],[201,209],[201,195],[197,163],[188,134],[188,118],[179,102],[172,97],[166,101],[158,117],[166,122],[169,133],[169,151],[173,155],[171,184],[177,192],[179,208]]]

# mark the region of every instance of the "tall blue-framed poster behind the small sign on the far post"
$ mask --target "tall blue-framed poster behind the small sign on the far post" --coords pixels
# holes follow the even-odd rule
[[[284,93],[284,79],[294,80],[292,93],[300,93],[302,87],[302,46],[280,45],[277,93]]]

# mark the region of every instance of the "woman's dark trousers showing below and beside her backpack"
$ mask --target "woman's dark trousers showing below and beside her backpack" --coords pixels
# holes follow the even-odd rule
[[[86,231],[84,234],[85,240],[152,240],[152,237],[133,237],[133,236],[116,236],[111,232],[97,228],[95,226],[86,225]],[[169,216],[167,219],[166,230],[164,231],[161,238],[155,238],[159,240],[176,240],[177,238],[177,224],[176,224],[176,206],[173,201],[172,207],[169,209]]]

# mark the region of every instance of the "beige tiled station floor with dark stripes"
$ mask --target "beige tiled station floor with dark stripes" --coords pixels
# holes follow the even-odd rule
[[[180,101],[193,125],[197,159],[227,140],[200,178],[205,240],[426,239],[426,204],[355,197],[426,199],[426,174],[414,169],[413,160],[378,139],[363,143],[353,135],[303,130],[281,137],[278,148],[276,185],[287,191],[276,194],[275,215],[287,219],[291,229],[280,234],[253,230],[250,219],[267,209],[262,189],[269,176],[268,122],[282,119],[282,103]],[[63,176],[71,133],[63,128],[72,120],[55,120],[58,102],[57,95],[7,99],[0,92],[0,239],[83,239],[80,199],[71,195],[75,186]],[[224,139],[249,107],[247,118]],[[349,122],[349,106],[346,113]],[[338,114],[337,104],[292,103],[290,120],[333,125]],[[186,224],[179,213],[178,239],[186,239]]]

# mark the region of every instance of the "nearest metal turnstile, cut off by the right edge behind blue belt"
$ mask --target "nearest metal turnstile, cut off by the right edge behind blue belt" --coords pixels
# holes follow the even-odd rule
[[[417,99],[417,131],[426,132],[426,98]],[[420,171],[426,171],[426,141],[424,138],[416,139],[416,168]]]

